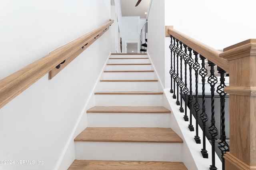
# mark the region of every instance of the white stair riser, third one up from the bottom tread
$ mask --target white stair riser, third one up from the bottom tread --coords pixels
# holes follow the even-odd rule
[[[95,106],[162,106],[162,95],[95,95]]]

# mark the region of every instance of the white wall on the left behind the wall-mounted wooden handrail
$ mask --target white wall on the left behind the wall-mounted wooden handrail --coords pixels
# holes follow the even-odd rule
[[[0,4],[0,79],[110,19],[110,0],[0,0]],[[52,80],[45,75],[0,109],[0,160],[15,161],[0,164],[0,169],[59,167],[110,55],[109,42],[110,31]],[[74,152],[70,153],[66,166],[74,160]],[[16,160],[30,162],[18,165]],[[44,164],[26,164],[33,160]]]

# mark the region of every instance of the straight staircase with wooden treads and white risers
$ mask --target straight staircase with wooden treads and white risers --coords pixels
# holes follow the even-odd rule
[[[69,170],[186,170],[146,54],[112,54]]]

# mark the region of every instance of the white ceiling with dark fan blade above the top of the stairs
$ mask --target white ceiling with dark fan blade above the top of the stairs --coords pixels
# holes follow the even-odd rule
[[[140,16],[146,18],[150,0],[141,0],[140,4],[135,7],[138,0],[120,0],[122,16]]]

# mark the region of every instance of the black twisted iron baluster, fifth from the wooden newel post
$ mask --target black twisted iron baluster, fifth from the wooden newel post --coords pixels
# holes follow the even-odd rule
[[[192,109],[193,109],[193,102],[194,102],[194,96],[192,95],[192,65],[194,63],[192,59],[192,48],[188,47],[189,51],[189,58],[188,58],[188,65],[189,65],[189,96],[188,96],[188,101],[189,101],[189,110],[190,110],[190,124],[188,125],[188,128],[190,131],[194,131],[194,127],[192,125]]]

